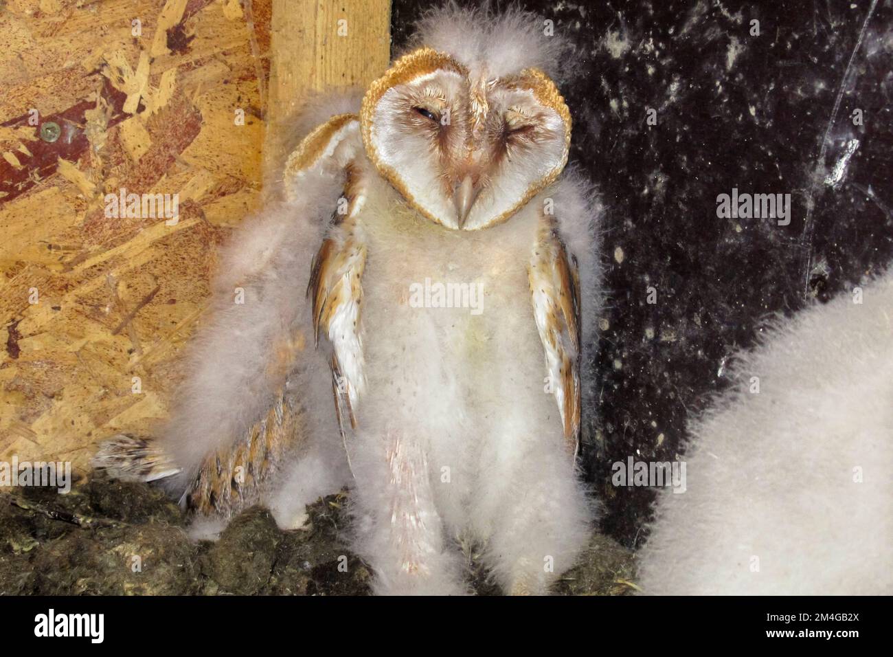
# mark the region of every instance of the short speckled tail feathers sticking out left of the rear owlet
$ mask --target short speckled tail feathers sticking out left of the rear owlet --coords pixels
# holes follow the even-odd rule
[[[125,481],[159,481],[181,471],[171,454],[157,442],[129,434],[118,434],[103,442],[91,464]]]

